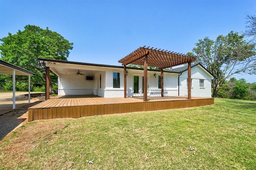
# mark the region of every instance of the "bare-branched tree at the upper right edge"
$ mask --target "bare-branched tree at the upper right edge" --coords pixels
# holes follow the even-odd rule
[[[246,17],[246,30],[244,31],[245,37],[251,37],[251,42],[256,44],[256,15],[248,15]]]

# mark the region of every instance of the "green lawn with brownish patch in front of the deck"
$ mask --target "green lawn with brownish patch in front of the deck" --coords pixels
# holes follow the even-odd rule
[[[0,142],[0,169],[256,169],[255,134],[256,102],[218,98],[214,106],[33,121]]]

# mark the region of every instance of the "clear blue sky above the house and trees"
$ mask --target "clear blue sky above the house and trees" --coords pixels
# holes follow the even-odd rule
[[[48,27],[74,43],[68,61],[121,65],[144,45],[186,54],[199,39],[242,33],[255,14],[256,0],[0,0],[0,38]]]

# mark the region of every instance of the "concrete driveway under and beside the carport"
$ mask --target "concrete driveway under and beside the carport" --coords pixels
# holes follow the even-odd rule
[[[28,107],[38,104],[37,100],[24,98],[26,92],[16,92],[16,109],[12,109],[12,93],[0,93],[0,140],[27,122]]]

